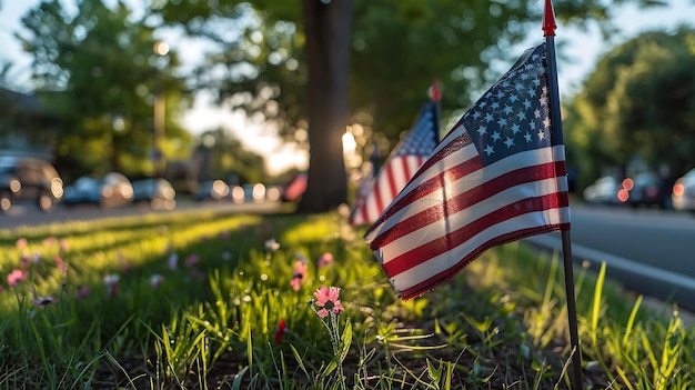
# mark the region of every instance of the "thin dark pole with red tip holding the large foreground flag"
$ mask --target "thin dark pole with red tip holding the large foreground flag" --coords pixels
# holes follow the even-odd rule
[[[545,37],[545,47],[547,50],[547,84],[550,96],[550,114],[551,123],[553,123],[553,136],[557,142],[562,142],[562,116],[560,113],[560,90],[557,87],[557,63],[555,61],[555,11],[553,10],[553,1],[545,0],[545,9],[543,11],[543,36]],[[562,251],[565,270],[565,291],[567,296],[567,317],[570,322],[570,342],[572,343],[572,366],[573,366],[573,388],[584,389],[582,379],[582,350],[580,349],[580,337],[577,331],[576,302],[574,297],[574,276],[572,272],[572,241],[570,240],[570,230],[562,231]]]

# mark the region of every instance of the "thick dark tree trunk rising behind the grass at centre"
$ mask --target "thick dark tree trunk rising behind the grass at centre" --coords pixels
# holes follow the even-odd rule
[[[342,136],[349,116],[352,0],[303,0],[303,14],[310,157],[298,212],[323,212],[348,201]]]

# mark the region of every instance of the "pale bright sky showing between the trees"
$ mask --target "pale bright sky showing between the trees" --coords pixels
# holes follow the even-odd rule
[[[134,1],[134,0],[133,0]],[[125,1],[132,3],[133,1]],[[621,8],[616,23],[622,30],[621,34],[613,37],[611,41],[605,41],[595,26],[590,26],[587,31],[576,31],[558,24],[555,36],[555,44],[564,44],[568,50],[563,53],[568,61],[557,63],[557,78],[560,82],[560,93],[572,94],[578,90],[582,81],[591,74],[596,61],[602,54],[608,52],[614,46],[634,38],[642,31],[647,30],[674,30],[681,24],[695,26],[695,0],[667,0],[669,7],[663,9],[638,9],[634,6]],[[29,77],[30,59],[22,53],[21,48],[16,42],[13,33],[21,28],[21,17],[31,8],[34,8],[40,0],[0,0],[0,63],[12,61],[13,80],[27,80]],[[64,0],[64,4],[70,4],[70,0]],[[537,44],[543,39],[541,21],[538,30],[530,31],[537,33],[538,40],[532,42]],[[200,58],[201,53],[192,50],[192,46],[185,44],[182,40],[168,42],[173,49],[185,52],[187,58]],[[520,51],[520,56],[521,56]],[[291,166],[305,168],[306,157],[299,153],[289,146],[281,144],[274,137],[268,134],[258,127],[249,127],[244,118],[234,114],[229,110],[211,107],[209,97],[201,96],[193,110],[182,120],[183,124],[194,134],[219,127],[230,128],[244,144],[266,157],[268,168],[271,171],[280,172]],[[268,151],[272,151],[269,153]]]

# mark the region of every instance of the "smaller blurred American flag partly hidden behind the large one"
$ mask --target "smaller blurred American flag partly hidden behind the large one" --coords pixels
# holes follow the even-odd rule
[[[357,192],[355,208],[349,219],[351,224],[374,223],[434,150],[439,131],[437,106],[426,103],[376,177]]]

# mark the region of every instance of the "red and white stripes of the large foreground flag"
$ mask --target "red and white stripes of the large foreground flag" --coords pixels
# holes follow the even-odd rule
[[[432,290],[493,246],[570,229],[564,146],[484,167],[462,123],[365,236],[403,299]]]

